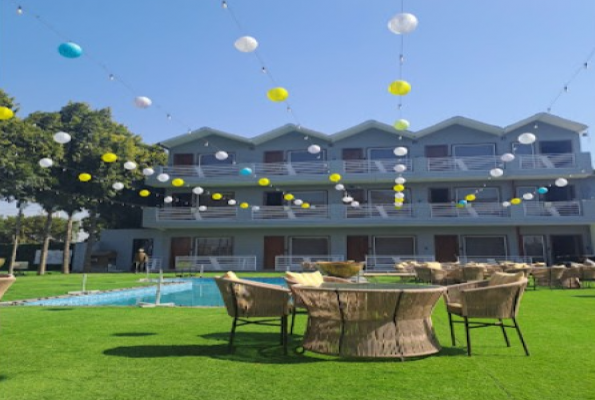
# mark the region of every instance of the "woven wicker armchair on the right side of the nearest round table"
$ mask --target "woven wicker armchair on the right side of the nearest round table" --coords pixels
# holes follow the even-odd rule
[[[503,285],[489,286],[489,281],[475,281],[449,286],[445,298],[452,345],[456,345],[454,323],[465,324],[467,355],[469,356],[471,356],[470,329],[499,326],[502,329],[506,345],[510,347],[510,341],[508,340],[505,328],[515,328],[525,349],[525,354],[529,355],[523,334],[516,321],[527,282],[527,278],[523,278],[518,282]],[[462,317],[463,321],[453,321],[453,314]],[[480,318],[482,320],[496,319],[498,321],[470,321],[471,318]],[[503,319],[511,319],[514,325],[505,325]]]

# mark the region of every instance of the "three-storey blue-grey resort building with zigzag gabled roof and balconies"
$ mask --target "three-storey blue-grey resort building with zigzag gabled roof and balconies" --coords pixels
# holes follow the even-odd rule
[[[163,269],[286,270],[312,259],[370,269],[411,258],[553,264],[593,253],[586,129],[546,113],[504,128],[453,117],[418,132],[377,121],[332,135],[295,125],[254,138],[202,128],[160,143],[168,165],[146,184],[171,203],[145,209],[141,230],[103,232],[100,246],[117,252],[121,270],[141,246]],[[527,132],[536,140],[519,142]]]

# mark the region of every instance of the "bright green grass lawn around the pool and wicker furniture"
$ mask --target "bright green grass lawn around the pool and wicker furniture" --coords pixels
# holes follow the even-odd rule
[[[89,289],[137,279],[91,275]],[[80,280],[22,277],[3,300],[64,293]],[[513,332],[507,348],[492,328],[472,332],[469,358],[460,326],[459,343],[449,343],[443,304],[433,320],[443,350],[402,363],[283,356],[275,328],[253,325],[239,328],[229,354],[222,308],[4,307],[0,399],[595,399],[595,289],[526,292],[519,323],[530,357]]]

